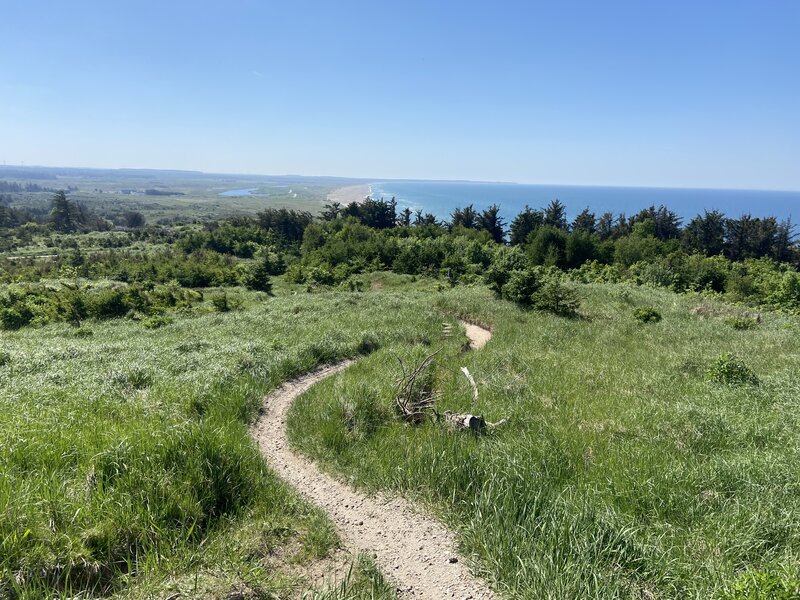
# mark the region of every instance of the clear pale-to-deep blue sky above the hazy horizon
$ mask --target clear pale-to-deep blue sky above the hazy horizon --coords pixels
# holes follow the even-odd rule
[[[0,160],[800,189],[800,1],[0,0]]]

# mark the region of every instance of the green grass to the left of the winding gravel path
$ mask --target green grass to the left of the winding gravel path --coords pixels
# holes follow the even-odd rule
[[[302,589],[281,565],[324,557],[336,536],[266,468],[247,425],[286,379],[420,339],[437,319],[428,300],[283,288],[155,329],[3,333],[0,596]]]

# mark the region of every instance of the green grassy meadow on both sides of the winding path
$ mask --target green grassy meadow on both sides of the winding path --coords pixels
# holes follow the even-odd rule
[[[248,436],[270,389],[368,352],[295,404],[292,439],[355,485],[427,504],[509,597],[792,597],[795,319],[740,330],[736,309],[621,285],[580,286],[566,319],[480,287],[362,277],[363,293],[239,290],[239,310],[206,302],[157,328],[0,334],[0,597],[392,597],[363,559],[307,591],[297,567],[324,560],[335,533]],[[662,321],[637,322],[641,307]],[[492,326],[480,352],[445,334],[459,316]],[[396,357],[440,348],[438,409],[508,424],[476,438],[399,422]],[[726,353],[760,385],[709,380]]]

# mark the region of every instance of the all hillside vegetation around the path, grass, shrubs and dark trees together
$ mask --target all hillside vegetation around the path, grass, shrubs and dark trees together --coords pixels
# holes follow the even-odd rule
[[[0,596],[296,593],[293,565],[335,536],[247,424],[286,378],[377,350],[302,399],[294,439],[428,503],[498,589],[792,597],[790,223],[684,226],[664,207],[568,222],[558,201],[443,223],[369,199],[168,225],[11,193],[49,199],[0,202]],[[492,326],[485,350],[442,329],[458,316]],[[438,409],[506,428],[394,417],[392,355],[432,348]],[[354,573],[330,597],[390,596]]]

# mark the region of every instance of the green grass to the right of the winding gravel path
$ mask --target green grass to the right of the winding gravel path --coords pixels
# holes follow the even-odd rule
[[[575,319],[481,289],[438,295],[444,320],[493,327],[485,349],[464,354],[461,336],[441,328],[425,345],[386,345],[301,397],[292,439],[356,485],[427,503],[513,598],[714,598],[748,573],[796,581],[797,321],[769,315],[742,331],[726,322],[734,309],[709,311],[699,298],[610,285],[580,293]],[[638,323],[639,307],[663,320]],[[509,424],[475,438],[393,416],[393,355],[438,348],[439,410]],[[761,385],[709,381],[726,352]],[[477,403],[462,366],[478,381]]]

